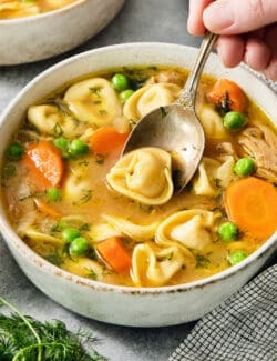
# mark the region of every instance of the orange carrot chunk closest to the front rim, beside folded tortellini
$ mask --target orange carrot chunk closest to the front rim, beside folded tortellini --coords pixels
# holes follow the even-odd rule
[[[119,237],[110,237],[96,247],[99,253],[116,272],[125,272],[131,268],[131,255]]]

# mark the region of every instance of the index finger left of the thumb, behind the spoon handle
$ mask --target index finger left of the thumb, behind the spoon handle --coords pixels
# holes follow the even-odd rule
[[[204,34],[206,28],[203,22],[203,12],[211,2],[213,0],[189,0],[187,30],[191,34]]]

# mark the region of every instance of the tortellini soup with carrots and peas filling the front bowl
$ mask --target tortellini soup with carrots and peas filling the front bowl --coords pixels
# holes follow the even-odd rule
[[[34,252],[100,282],[160,287],[220,272],[276,231],[276,126],[229,80],[201,81],[206,146],[182,193],[174,154],[120,158],[140,118],[172,103],[186,78],[173,67],[115,69],[28,109],[6,152],[2,193]]]

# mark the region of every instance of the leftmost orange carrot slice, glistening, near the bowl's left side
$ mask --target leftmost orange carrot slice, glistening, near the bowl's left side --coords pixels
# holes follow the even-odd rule
[[[29,179],[38,190],[57,187],[64,173],[64,163],[59,150],[47,141],[31,144],[24,154],[23,164],[29,168]]]

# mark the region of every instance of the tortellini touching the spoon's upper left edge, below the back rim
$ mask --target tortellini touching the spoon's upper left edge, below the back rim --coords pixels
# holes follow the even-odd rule
[[[173,83],[150,84],[138,89],[123,108],[126,119],[138,121],[152,110],[171,104],[181,92],[181,88]]]

